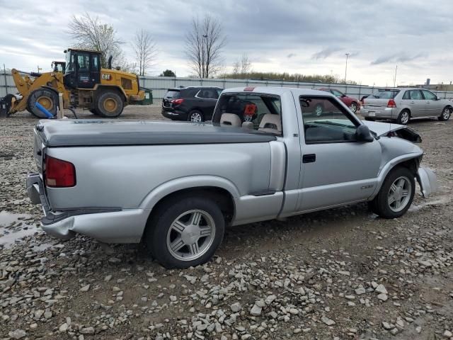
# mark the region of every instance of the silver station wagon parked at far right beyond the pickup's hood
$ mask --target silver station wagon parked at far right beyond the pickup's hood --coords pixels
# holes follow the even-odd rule
[[[448,120],[452,102],[425,89],[379,89],[364,100],[360,113],[365,120],[391,119],[406,125],[413,118]]]

